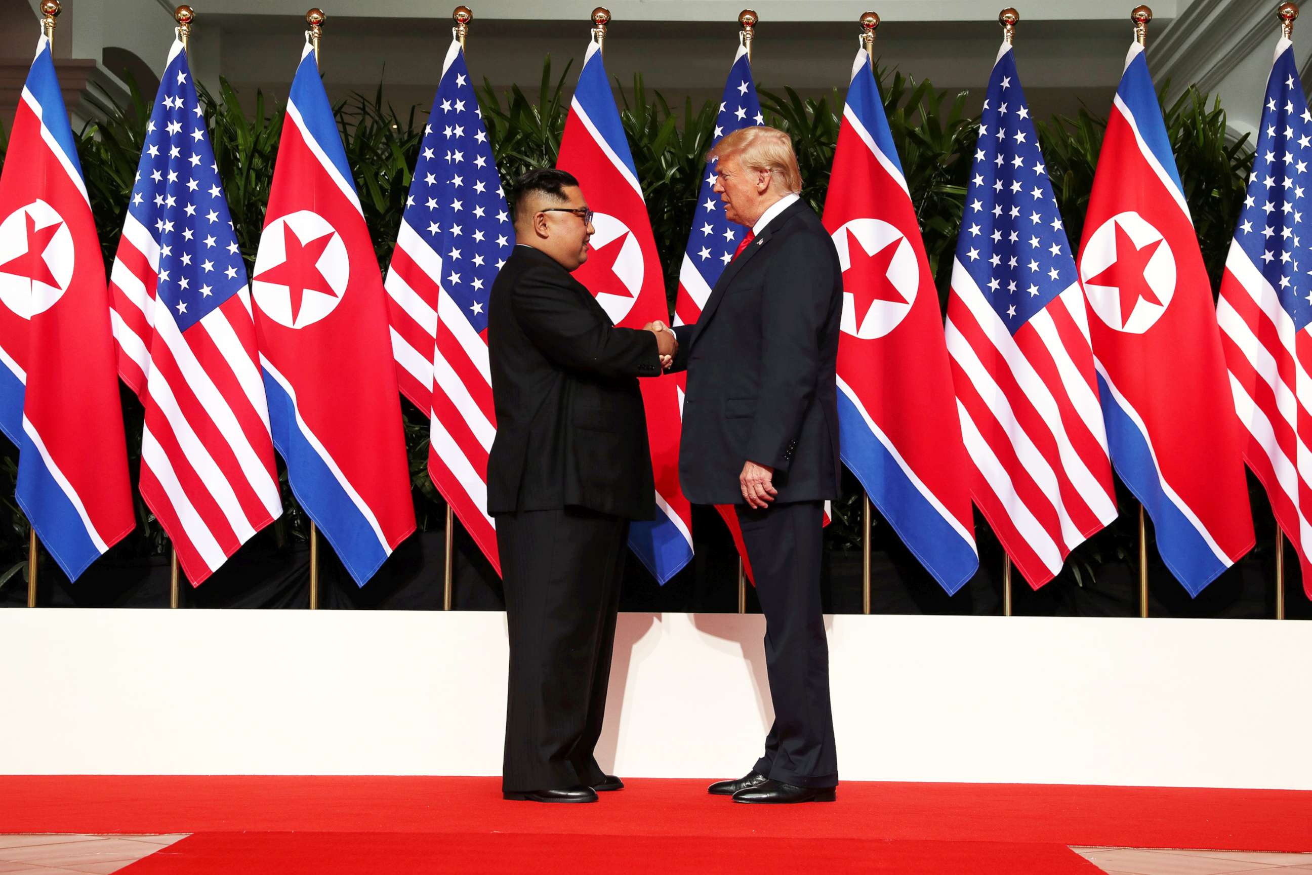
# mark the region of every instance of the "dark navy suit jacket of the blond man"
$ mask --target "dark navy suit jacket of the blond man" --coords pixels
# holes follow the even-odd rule
[[[744,504],[747,460],[774,468],[775,501],[838,497],[834,365],[838,253],[804,201],[774,216],[720,274],[693,325],[678,476],[694,504]]]

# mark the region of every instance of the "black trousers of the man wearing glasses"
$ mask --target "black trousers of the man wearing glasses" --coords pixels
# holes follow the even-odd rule
[[[581,508],[497,514],[510,676],[501,787],[593,786],[628,521]]]

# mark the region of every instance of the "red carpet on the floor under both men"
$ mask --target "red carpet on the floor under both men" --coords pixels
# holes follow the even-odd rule
[[[848,782],[832,804],[756,807],[705,781],[627,783],[539,805],[502,802],[499,778],[0,777],[0,833],[198,833],[131,875],[547,874],[562,849],[597,871],[1088,875],[1067,845],[1312,850],[1312,792]]]

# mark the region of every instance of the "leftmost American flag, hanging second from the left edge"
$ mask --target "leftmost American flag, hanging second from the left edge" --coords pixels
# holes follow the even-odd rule
[[[199,585],[282,501],[245,264],[181,42],[146,130],[110,319],[146,407],[142,499]]]

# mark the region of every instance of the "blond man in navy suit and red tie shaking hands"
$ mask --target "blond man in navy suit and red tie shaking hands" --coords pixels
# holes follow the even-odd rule
[[[694,504],[733,504],[765,613],[774,725],[733,802],[829,802],[838,783],[820,610],[824,501],[838,497],[838,253],[803,202],[787,134],[747,127],[711,151],[726,218],[745,226],[693,325],[678,458]]]

